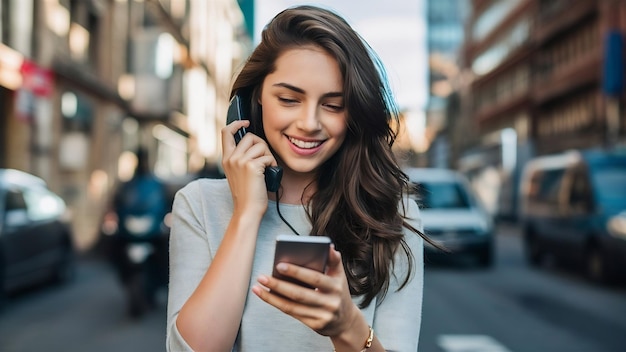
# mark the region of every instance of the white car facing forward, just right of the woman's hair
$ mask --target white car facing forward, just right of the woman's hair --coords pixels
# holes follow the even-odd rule
[[[472,255],[482,267],[493,265],[494,224],[467,178],[458,171],[436,168],[404,170],[416,190],[424,232],[450,251]],[[426,245],[425,255],[442,253]]]

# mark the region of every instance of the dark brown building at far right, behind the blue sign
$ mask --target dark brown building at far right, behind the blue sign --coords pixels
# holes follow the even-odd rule
[[[624,90],[607,87],[605,79],[617,77],[604,74],[623,82],[625,35],[625,1],[537,3],[530,124],[536,154],[623,141],[624,114],[610,109],[624,102]]]

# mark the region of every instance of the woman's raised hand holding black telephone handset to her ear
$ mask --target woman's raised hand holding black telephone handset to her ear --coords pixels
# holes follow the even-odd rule
[[[222,167],[233,197],[235,214],[264,214],[267,210],[265,168],[277,165],[267,143],[246,133],[239,144],[234,135],[249,120],[238,120],[222,128]]]

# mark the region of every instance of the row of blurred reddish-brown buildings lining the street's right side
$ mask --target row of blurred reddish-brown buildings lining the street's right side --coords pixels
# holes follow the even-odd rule
[[[515,217],[528,158],[624,143],[625,34],[621,0],[471,1],[448,128],[495,215]]]

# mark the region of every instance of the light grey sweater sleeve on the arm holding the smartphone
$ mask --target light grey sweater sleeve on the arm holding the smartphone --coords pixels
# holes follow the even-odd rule
[[[406,199],[405,205],[407,222],[423,232],[417,204]],[[398,291],[408,270],[408,259],[404,251],[399,249],[389,290],[382,302],[378,302],[372,327],[387,351],[416,352],[422,322],[424,242],[420,235],[409,229],[404,229],[404,235],[413,258],[410,281]]]

